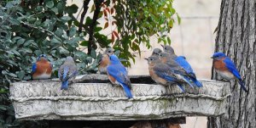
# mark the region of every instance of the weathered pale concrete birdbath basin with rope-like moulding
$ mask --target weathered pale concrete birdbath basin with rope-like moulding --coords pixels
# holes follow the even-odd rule
[[[229,83],[202,80],[200,89],[186,86],[182,93],[177,86],[136,83],[146,78],[131,76],[129,100],[120,86],[103,83],[106,75],[79,76],[67,91],[57,80],[16,82],[10,98],[19,120],[157,120],[225,112]],[[97,83],[78,83],[83,81]]]

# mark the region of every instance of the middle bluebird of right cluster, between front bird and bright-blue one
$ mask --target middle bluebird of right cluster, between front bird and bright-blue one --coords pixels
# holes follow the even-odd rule
[[[189,86],[194,87],[193,84],[190,82],[191,78],[194,78],[194,75],[190,75],[187,73],[186,70],[183,69],[177,62],[170,58],[168,53],[160,53],[160,61],[164,64],[167,64],[177,76],[178,79],[181,79],[189,84]]]

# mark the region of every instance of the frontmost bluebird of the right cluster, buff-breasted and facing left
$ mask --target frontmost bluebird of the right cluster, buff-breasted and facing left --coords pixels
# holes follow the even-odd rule
[[[182,92],[185,92],[183,86],[181,86],[183,81],[178,80],[173,70],[167,64],[162,63],[159,57],[151,56],[145,59],[148,60],[149,75],[156,83],[164,86],[167,86],[168,83],[175,83]]]

